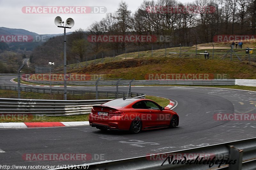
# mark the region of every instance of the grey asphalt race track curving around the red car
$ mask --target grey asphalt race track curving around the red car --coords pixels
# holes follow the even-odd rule
[[[16,86],[17,84],[9,81],[11,78],[13,77],[1,77],[0,83]],[[76,89],[86,88],[76,87]],[[113,89],[113,87],[104,88]],[[4,151],[0,152],[0,164],[79,165],[146,156],[149,153],[179,151],[256,136],[255,121],[215,121],[213,119],[215,113],[255,114],[256,92],[174,86],[138,86],[132,87],[132,92],[176,100],[178,106],[173,110],[180,116],[179,127],[149,130],[134,135],[126,132],[102,132],[90,126],[0,129],[0,151]],[[26,153],[88,153],[92,155],[92,159],[26,161],[22,159],[22,155]],[[101,159],[99,159],[100,154]]]

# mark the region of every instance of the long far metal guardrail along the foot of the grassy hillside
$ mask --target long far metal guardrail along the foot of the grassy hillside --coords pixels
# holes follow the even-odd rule
[[[21,78],[24,81],[37,84],[50,84],[48,80],[33,80]],[[63,85],[64,81],[52,81],[52,85]],[[98,81],[98,85],[116,85],[117,81]],[[129,85],[130,81],[119,81],[118,85]],[[132,85],[235,85],[236,79],[209,80],[134,80]],[[96,81],[67,81],[68,85],[95,85]]]

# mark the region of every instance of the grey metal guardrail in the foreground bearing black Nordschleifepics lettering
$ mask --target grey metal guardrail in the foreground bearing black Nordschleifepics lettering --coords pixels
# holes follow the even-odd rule
[[[229,164],[223,163],[220,167],[219,163],[214,164],[213,166],[209,166],[209,164],[196,164],[193,161],[192,164],[179,164],[173,163],[175,159],[182,158],[183,156],[192,154],[189,157],[191,160],[199,160],[203,158],[203,160],[211,160],[215,158],[221,160],[228,160]],[[177,156],[181,155],[181,156]],[[211,155],[209,158],[207,155]],[[174,159],[169,164],[168,156],[174,156]],[[197,156],[199,156],[198,159]],[[191,158],[192,157],[192,158]],[[166,160],[164,162],[164,160]],[[180,160],[180,159],[178,159]],[[187,158],[188,160],[188,158]],[[236,162],[234,162],[236,160]],[[215,162],[214,161],[214,162]],[[234,163],[234,164],[233,164]],[[86,167],[84,165],[87,165]],[[252,139],[245,139],[239,140],[234,142],[227,142],[222,144],[215,144],[212,146],[204,146],[195,149],[187,149],[182,151],[175,151],[175,152],[168,152],[168,153],[161,153],[161,154],[150,154],[148,156],[137,157],[137,158],[130,158],[130,159],[122,159],[116,161],[106,161],[106,162],[99,162],[99,163],[91,163],[91,164],[84,164],[78,165],[73,168],[77,169],[91,169],[91,170],[119,170],[119,169],[126,169],[126,170],[146,170],[146,169],[172,169],[172,170],[201,170],[201,169],[223,169],[223,170],[255,170],[256,167],[256,138]],[[89,168],[88,168],[89,165]],[[59,168],[62,169],[62,168]],[[64,168],[63,168],[64,169]]]

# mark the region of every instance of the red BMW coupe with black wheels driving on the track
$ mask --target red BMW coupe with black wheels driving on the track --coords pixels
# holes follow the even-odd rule
[[[149,99],[123,98],[93,106],[90,126],[100,130],[141,130],[179,125],[179,115]]]

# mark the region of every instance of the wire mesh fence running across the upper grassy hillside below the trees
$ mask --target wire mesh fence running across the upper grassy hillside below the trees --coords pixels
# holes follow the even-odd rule
[[[193,46],[187,46],[183,44],[134,46],[109,50],[107,52],[86,56],[84,62],[79,62],[78,60],[70,60],[68,61],[69,65],[67,66],[67,69],[71,70],[93,66],[100,63],[108,63],[142,57],[219,59],[242,61],[255,64],[256,57],[253,53],[247,53],[247,48],[251,47],[231,48],[231,45],[228,43],[225,43],[221,46],[216,46],[214,43]],[[61,72],[63,71],[63,68],[56,68],[55,71]]]

